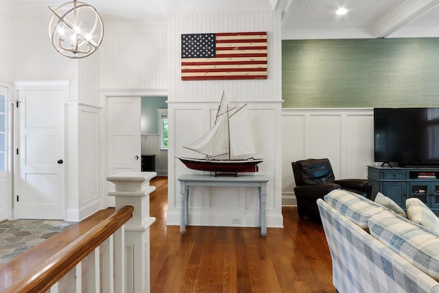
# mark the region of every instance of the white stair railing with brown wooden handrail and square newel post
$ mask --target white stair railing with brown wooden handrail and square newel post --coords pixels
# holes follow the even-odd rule
[[[155,218],[150,217],[149,195],[156,189],[150,186],[155,176],[155,172],[108,176],[115,183],[109,196],[116,197],[116,213],[58,252],[47,251],[47,258],[32,263],[32,268],[25,267],[23,257],[12,259],[11,266],[0,269],[0,291],[56,293],[65,287],[67,292],[82,292],[84,286],[87,292],[150,292],[149,229]]]

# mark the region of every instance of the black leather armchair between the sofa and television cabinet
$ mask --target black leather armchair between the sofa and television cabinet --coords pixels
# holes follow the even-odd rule
[[[292,163],[294,194],[297,199],[299,218],[305,215],[320,219],[317,199],[323,198],[334,189],[346,189],[370,198],[372,185],[367,179],[335,180],[329,159],[307,159]]]

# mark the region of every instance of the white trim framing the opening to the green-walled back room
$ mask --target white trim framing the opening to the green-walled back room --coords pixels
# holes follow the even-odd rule
[[[102,162],[100,174],[103,174],[103,178],[101,182],[99,183],[99,190],[102,190],[102,207],[101,209],[106,209],[108,207],[108,190],[106,190],[106,178],[108,175],[108,154],[107,154],[107,148],[106,148],[106,141],[108,139],[108,133],[107,133],[107,121],[108,121],[108,108],[107,108],[107,102],[109,97],[167,97],[167,89],[145,89],[145,90],[137,90],[137,89],[128,89],[128,90],[108,90],[108,91],[101,91],[99,93],[99,103],[102,108],[104,108],[102,117],[101,117],[101,129],[102,129],[102,137],[100,139],[101,146],[100,149],[101,157],[99,160]]]

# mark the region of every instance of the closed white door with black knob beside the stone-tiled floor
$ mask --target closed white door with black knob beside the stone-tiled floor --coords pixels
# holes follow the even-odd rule
[[[64,93],[19,91],[17,218],[64,220]]]

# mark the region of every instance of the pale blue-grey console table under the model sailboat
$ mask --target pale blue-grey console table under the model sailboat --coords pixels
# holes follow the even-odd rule
[[[267,235],[266,206],[268,177],[263,175],[242,175],[237,177],[183,174],[180,181],[180,233],[184,234],[189,224],[189,187],[191,186],[237,186],[258,187],[259,189],[259,228],[261,235]]]

